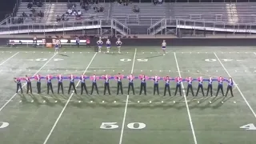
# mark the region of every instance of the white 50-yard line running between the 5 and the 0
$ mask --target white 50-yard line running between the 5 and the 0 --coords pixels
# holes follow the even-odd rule
[[[133,65],[131,66],[130,74],[134,73],[134,63],[135,63],[136,54],[137,54],[137,48],[135,48],[134,62],[133,62]],[[129,102],[129,95],[127,95],[127,98],[126,98],[126,107],[125,107],[125,111],[123,113],[123,118],[122,118],[122,129],[121,129],[119,144],[122,144],[122,136],[123,136],[123,130],[125,128],[125,123],[126,123],[126,113],[127,113],[128,102]]]

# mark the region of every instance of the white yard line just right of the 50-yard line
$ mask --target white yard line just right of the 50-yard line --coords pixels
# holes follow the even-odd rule
[[[177,60],[175,52],[174,52],[174,58],[175,58],[175,62],[176,62],[177,70],[178,70],[178,75],[180,77],[182,77],[181,72],[179,70],[178,60]],[[192,122],[192,118],[191,118],[191,114],[190,114],[190,108],[189,108],[189,105],[187,104],[187,100],[186,100],[186,93],[185,93],[185,90],[184,90],[184,85],[183,85],[183,82],[181,82],[181,83],[182,83],[183,95],[184,95],[185,102],[186,102],[186,110],[187,110],[187,114],[188,114],[189,119],[190,119],[190,127],[191,127],[193,138],[194,138],[194,144],[198,144],[197,138],[196,138],[195,133],[194,133],[194,126],[193,126],[193,122]]]

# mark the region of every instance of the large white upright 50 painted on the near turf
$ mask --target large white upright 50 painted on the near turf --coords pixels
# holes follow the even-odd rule
[[[100,126],[101,129],[106,130],[117,129],[118,127],[118,122],[102,122],[102,125]],[[127,124],[127,127],[133,130],[141,130],[146,127],[146,124],[142,122],[131,122]]]

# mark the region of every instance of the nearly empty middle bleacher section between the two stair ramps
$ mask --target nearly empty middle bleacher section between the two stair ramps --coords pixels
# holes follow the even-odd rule
[[[126,25],[145,25],[150,26],[154,22],[158,22],[162,18],[166,18],[166,6],[149,3],[131,3],[128,6],[123,6],[118,3],[112,4],[112,18],[117,19]],[[134,13],[133,7],[138,6],[140,12]]]

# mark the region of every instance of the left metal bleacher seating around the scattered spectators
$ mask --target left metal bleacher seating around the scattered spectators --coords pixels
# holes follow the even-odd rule
[[[28,2],[22,2],[18,8],[17,16],[21,16],[23,12],[25,12],[27,15],[30,14],[31,9],[27,9]],[[79,2],[76,2],[76,8],[75,10],[81,10],[82,17],[80,19],[103,19],[108,16],[110,4],[109,3],[99,3],[97,6],[103,6],[104,11],[102,13],[96,13],[94,12],[93,5],[90,5],[89,10],[82,9],[82,6],[80,6]],[[42,7],[34,7],[35,10],[39,11],[42,10],[44,13],[44,18],[36,18],[35,20],[32,20],[31,18],[26,18],[24,20],[24,23],[29,22],[42,22],[46,24],[57,24],[56,18],[59,16],[61,17],[62,14],[66,14],[67,8],[67,2],[45,2],[43,3]],[[70,21],[75,21],[75,16],[71,15],[67,17]]]

